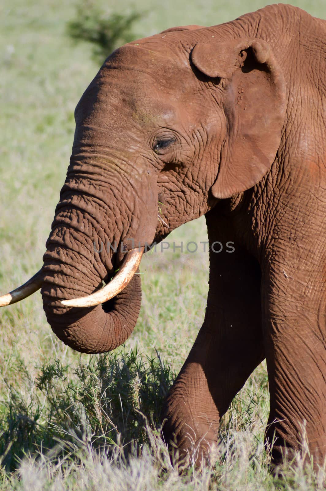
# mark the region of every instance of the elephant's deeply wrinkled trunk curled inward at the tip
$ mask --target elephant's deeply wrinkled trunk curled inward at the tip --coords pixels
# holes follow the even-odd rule
[[[140,276],[134,274],[118,295],[94,307],[69,308],[62,300],[90,295],[108,282],[125,249],[135,243],[144,246],[145,238],[153,240],[157,221],[155,192],[142,207],[142,217],[132,190],[112,191],[114,180],[104,192],[102,181],[92,177],[86,192],[85,176],[76,176],[75,169],[71,176],[68,172],[43,258],[41,294],[47,320],[59,339],[83,353],[111,351],[131,334],[141,305]]]

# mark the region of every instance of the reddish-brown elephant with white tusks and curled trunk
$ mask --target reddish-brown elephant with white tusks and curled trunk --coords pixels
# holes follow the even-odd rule
[[[147,246],[204,215],[210,245],[234,251],[209,248],[203,324],[162,412],[165,441],[199,463],[265,358],[272,462],[303,437],[326,458],[325,39],[326,21],[276,4],[114,51],[75,109],[43,266],[0,299],[41,288],[64,343],[113,350],[137,322]]]

